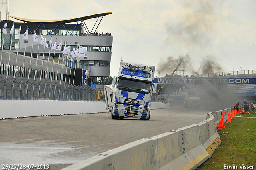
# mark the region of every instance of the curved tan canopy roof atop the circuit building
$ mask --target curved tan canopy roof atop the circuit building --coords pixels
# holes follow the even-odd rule
[[[83,16],[79,18],[70,18],[70,19],[57,19],[57,20],[37,20],[37,19],[27,19],[27,18],[20,18],[16,16],[10,16],[16,20],[24,21],[24,22],[38,22],[38,23],[56,23],[56,22],[62,22],[62,23],[71,23],[71,22],[77,22],[79,20],[88,20],[92,18],[98,18],[100,16],[106,16],[112,14],[112,12],[106,12],[106,13],[100,13],[100,14],[94,14],[89,16]]]

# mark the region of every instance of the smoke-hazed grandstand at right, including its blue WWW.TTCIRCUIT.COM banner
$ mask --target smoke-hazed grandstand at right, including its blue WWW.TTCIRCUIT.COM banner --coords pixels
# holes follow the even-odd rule
[[[226,73],[201,74],[192,78],[155,78],[154,83],[184,84],[179,90],[163,98],[165,101],[170,101],[171,106],[184,106],[185,97],[188,95],[190,97],[200,97],[201,106],[216,110],[216,107],[233,107],[234,103],[238,101],[240,103],[252,101],[255,104],[255,72],[256,70],[229,72],[228,75]]]

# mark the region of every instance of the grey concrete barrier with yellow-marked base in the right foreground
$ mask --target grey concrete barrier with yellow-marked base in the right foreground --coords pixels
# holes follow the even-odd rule
[[[200,124],[137,140],[62,170],[195,169],[210,158],[220,142],[214,117],[210,115]]]

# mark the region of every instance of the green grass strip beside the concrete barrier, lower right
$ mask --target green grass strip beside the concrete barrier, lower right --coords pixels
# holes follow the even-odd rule
[[[220,134],[221,144],[210,159],[196,170],[256,170],[256,113],[236,114]],[[248,117],[248,118],[246,118]],[[226,166],[224,166],[226,165]],[[246,168],[240,168],[245,165]]]

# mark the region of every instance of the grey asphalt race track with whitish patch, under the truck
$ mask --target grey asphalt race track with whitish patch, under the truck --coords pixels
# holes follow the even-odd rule
[[[2,164],[49,164],[58,170],[96,154],[206,120],[210,111],[151,110],[150,120],[112,120],[107,113],[0,120]]]

